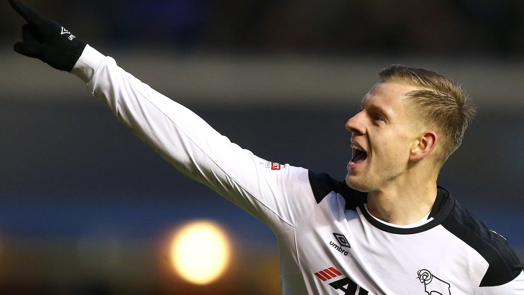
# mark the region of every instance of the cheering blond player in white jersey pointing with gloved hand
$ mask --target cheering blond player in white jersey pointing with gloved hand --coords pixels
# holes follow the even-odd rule
[[[19,0],[20,54],[70,71],[141,140],[276,234],[283,294],[524,295],[507,241],[446,189],[440,168],[474,110],[438,73],[394,65],[347,121],[345,182],[241,149]]]

